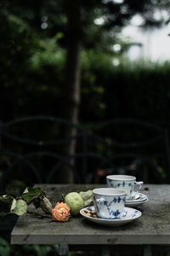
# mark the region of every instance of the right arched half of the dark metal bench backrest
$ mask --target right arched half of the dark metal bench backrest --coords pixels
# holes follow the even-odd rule
[[[137,119],[111,119],[88,127],[89,147],[111,160],[111,173],[130,174],[144,182],[170,182],[168,133],[159,125]]]

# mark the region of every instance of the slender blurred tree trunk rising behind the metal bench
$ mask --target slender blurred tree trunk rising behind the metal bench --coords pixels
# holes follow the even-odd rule
[[[80,22],[80,0],[68,0],[68,39],[65,73],[65,119],[71,123],[78,123],[78,112],[80,104],[80,47],[81,47],[81,22]],[[74,137],[77,131],[72,126],[65,127],[64,137]],[[65,155],[75,154],[76,141],[71,140],[64,147]],[[74,166],[74,159],[71,160]],[[74,171],[65,166],[65,172],[61,177],[64,183],[74,183]]]

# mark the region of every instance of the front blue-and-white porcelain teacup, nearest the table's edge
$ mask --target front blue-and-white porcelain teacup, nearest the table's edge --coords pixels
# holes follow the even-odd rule
[[[122,189],[94,189],[94,208],[99,218],[117,219],[125,217],[126,191]]]

